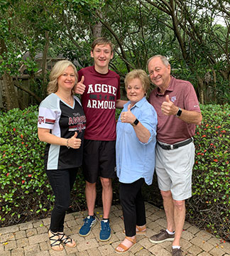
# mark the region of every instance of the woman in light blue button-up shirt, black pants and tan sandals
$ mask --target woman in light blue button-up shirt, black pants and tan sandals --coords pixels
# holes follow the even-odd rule
[[[125,85],[129,102],[116,127],[116,172],[126,238],[116,247],[117,253],[127,252],[136,243],[136,235],[146,232],[141,187],[152,183],[155,168],[157,114],[146,100],[150,80],[145,71],[133,70],[126,75]]]

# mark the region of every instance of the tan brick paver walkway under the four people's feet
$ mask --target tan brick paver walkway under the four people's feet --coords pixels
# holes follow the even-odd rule
[[[100,220],[102,218],[102,208],[97,208],[95,212]],[[82,219],[85,215],[87,215],[86,212],[69,213],[65,218],[65,233],[77,242],[77,247],[75,248],[65,247],[65,250],[62,252],[51,250],[47,235],[50,218],[45,218],[43,220],[0,228],[0,256],[118,255],[114,252],[114,247],[119,245],[119,242],[124,239],[121,206],[112,206],[111,208],[110,224],[112,236],[108,242],[99,241],[99,222],[86,238],[78,235]],[[136,245],[125,255],[170,256],[172,242],[154,245],[148,240],[151,235],[165,228],[164,211],[146,203],[146,217],[148,228],[146,236],[138,235]],[[184,255],[230,256],[230,243],[221,242],[220,239],[195,228],[195,226],[189,223],[185,223],[181,243]]]

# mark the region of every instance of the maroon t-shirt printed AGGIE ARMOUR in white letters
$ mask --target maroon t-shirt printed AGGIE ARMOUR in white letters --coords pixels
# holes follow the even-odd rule
[[[85,91],[82,107],[87,119],[84,139],[113,141],[116,139],[116,100],[120,99],[120,78],[114,71],[97,73],[94,66],[78,71],[84,75]]]

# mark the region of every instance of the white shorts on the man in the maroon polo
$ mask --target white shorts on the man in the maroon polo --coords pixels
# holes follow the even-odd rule
[[[161,143],[168,145],[165,143]],[[192,167],[195,161],[193,142],[178,149],[155,149],[155,171],[161,191],[171,191],[172,198],[182,201],[192,196]]]

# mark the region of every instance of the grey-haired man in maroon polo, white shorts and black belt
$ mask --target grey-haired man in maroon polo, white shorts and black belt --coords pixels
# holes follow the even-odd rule
[[[147,65],[150,80],[156,85],[149,102],[158,114],[155,171],[167,219],[167,229],[153,235],[150,242],[173,241],[172,255],[182,256],[180,237],[185,223],[185,199],[192,196],[195,159],[192,136],[202,114],[194,87],[170,75],[170,63],[165,56],[155,55]]]

